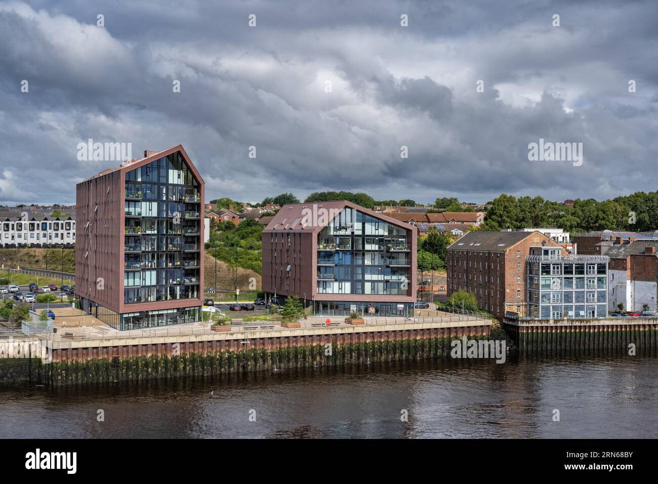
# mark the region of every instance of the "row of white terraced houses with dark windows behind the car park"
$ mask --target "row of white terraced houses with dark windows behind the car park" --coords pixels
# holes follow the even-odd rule
[[[3,247],[61,247],[73,246],[75,242],[76,221],[70,215],[30,215],[24,220],[7,217],[0,221],[0,245]]]

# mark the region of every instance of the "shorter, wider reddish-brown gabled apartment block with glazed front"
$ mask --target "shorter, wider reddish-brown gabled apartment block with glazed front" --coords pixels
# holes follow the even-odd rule
[[[413,315],[417,229],[355,203],[284,205],[263,230],[263,291],[319,315]]]

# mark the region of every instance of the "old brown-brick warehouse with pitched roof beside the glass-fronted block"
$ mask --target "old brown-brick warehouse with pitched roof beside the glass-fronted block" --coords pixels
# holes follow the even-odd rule
[[[562,250],[541,232],[467,232],[447,248],[447,296],[468,290],[480,309],[499,319],[507,311],[528,315],[526,257],[532,248]]]

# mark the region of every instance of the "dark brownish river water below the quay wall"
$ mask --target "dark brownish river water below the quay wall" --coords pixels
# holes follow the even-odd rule
[[[656,358],[510,355],[0,387],[0,438],[656,438],[657,376]]]

